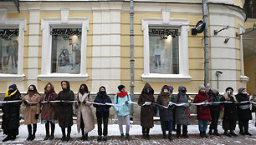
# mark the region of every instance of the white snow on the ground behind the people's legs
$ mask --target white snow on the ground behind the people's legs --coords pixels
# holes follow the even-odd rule
[[[253,120],[249,121],[249,133],[252,133],[253,136],[256,136],[256,127],[254,127],[255,123],[255,113],[253,113]],[[59,124],[55,124],[55,138],[62,138],[61,129],[59,128]],[[123,129],[125,131],[125,125],[123,125]],[[221,125],[218,125],[219,133],[223,133],[223,128]],[[208,129],[207,129],[208,132]],[[176,132],[172,132],[176,134]],[[188,134],[198,134],[198,126],[197,125],[189,125],[188,126]],[[236,127],[235,133],[239,133],[238,125]],[[141,126],[140,125],[131,125],[130,128],[131,135],[141,135]],[[161,134],[161,126],[155,125],[154,128],[151,129],[150,134]],[[97,125],[95,124],[95,129],[89,133],[89,136],[98,136],[97,133]],[[110,124],[108,126],[108,136],[120,136],[119,126],[118,124]],[[3,132],[0,133],[0,142],[5,138],[6,135]],[[36,133],[35,141],[42,141],[45,137],[45,128],[44,124],[38,123],[38,129]],[[81,133],[77,132],[77,126],[74,124],[71,130],[71,138],[80,138]],[[19,128],[19,135],[14,141],[9,141],[8,143],[23,143],[28,138],[28,129],[26,125],[21,125]]]

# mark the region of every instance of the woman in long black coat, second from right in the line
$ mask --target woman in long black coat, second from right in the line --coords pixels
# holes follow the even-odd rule
[[[233,131],[236,128],[237,121],[238,121],[237,104],[235,104],[235,102],[238,102],[238,101],[237,101],[236,97],[233,95],[232,87],[226,88],[226,92],[224,93],[223,97],[221,98],[221,101],[223,101],[223,102],[228,101],[226,103],[223,103],[224,135],[226,135],[228,137],[238,136],[236,133],[233,133]],[[229,130],[229,133],[228,133],[228,130]]]

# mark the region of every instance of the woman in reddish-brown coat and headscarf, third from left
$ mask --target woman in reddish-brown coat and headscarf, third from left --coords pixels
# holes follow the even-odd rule
[[[54,86],[52,83],[48,82],[44,87],[44,95],[41,97],[42,112],[41,112],[41,123],[45,124],[46,136],[44,140],[53,140],[54,139],[54,114],[55,114],[55,102],[57,93],[54,91]],[[49,124],[51,124],[51,135],[49,135]]]

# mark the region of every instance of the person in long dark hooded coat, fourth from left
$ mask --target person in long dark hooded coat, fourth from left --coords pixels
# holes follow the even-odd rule
[[[73,102],[74,92],[70,90],[70,85],[68,81],[61,82],[62,91],[59,92],[56,100],[66,101],[59,102],[59,127],[61,128],[62,138],[61,140],[69,142],[71,126],[73,125]],[[71,101],[71,102],[69,102]],[[68,133],[66,135],[65,128],[68,128]]]

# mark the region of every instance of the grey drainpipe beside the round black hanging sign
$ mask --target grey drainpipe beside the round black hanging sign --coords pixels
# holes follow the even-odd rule
[[[204,29],[204,86],[209,90],[209,40],[208,40],[208,23],[207,23],[207,0],[202,0],[202,15],[206,25]]]

